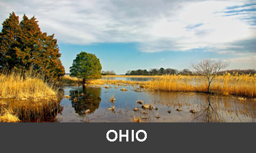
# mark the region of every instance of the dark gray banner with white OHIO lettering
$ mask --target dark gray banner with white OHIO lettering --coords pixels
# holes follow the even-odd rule
[[[255,125],[255,123],[1,123],[0,146],[5,152],[29,150],[33,152],[223,152],[224,150],[247,152],[255,149]],[[127,130],[128,135],[126,135]],[[107,135],[108,131],[110,131],[109,135]],[[119,139],[120,131],[122,141]],[[126,141],[127,136],[128,141]]]

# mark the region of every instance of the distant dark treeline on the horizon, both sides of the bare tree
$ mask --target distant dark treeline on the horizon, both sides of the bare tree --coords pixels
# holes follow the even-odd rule
[[[225,70],[218,72],[219,75],[223,75],[224,73],[238,73],[241,74],[255,74],[255,69],[232,69],[232,70]],[[150,69],[147,71],[147,69],[137,69],[132,71],[127,71],[126,75],[164,75],[164,74],[181,74],[181,75],[196,75],[196,72],[190,71],[190,69],[182,69],[181,71],[178,71],[177,69],[171,69],[171,68],[160,68],[160,69]]]

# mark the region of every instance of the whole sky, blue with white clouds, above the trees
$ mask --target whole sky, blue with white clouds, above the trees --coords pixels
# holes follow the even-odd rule
[[[12,12],[20,20],[35,16],[42,32],[55,34],[66,73],[81,51],[117,74],[193,70],[191,63],[203,59],[256,69],[252,0],[0,0],[0,22]]]

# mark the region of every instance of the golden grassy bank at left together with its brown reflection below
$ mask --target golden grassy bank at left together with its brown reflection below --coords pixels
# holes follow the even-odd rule
[[[58,89],[43,78],[31,71],[0,74],[0,122],[41,122],[59,111]]]

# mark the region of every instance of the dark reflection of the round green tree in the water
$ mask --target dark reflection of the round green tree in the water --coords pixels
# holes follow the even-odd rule
[[[85,86],[77,90],[70,90],[70,100],[75,112],[79,115],[95,112],[100,106],[100,92],[100,88],[85,88]]]

